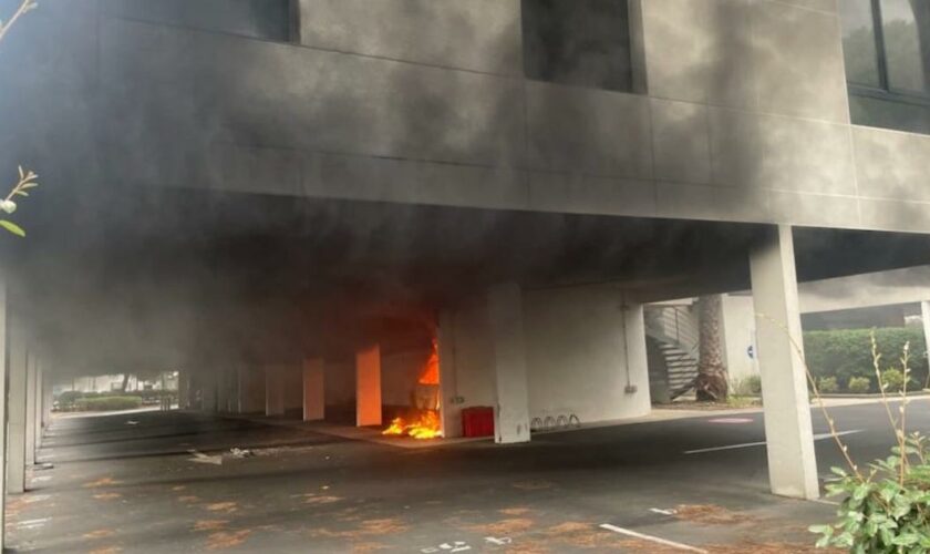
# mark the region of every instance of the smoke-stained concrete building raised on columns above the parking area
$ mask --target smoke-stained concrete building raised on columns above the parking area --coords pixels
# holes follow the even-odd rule
[[[9,371],[23,348],[182,367],[205,409],[368,424],[422,397],[436,338],[446,435],[489,406],[518,442],[649,411],[644,302],[751,289],[772,490],[815,497],[797,280],[930,257],[928,21],[905,0],[43,3],[0,47],[0,175],[42,176],[4,245]]]

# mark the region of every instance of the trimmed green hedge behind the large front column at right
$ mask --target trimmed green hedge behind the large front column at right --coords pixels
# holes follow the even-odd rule
[[[870,392],[878,392],[872,368],[871,329],[840,329],[806,331],[804,355],[815,379],[836,377],[840,390],[849,390],[849,380],[865,377],[870,380]],[[910,327],[875,329],[876,343],[881,353],[881,369],[900,369],[901,351],[910,342],[910,387],[920,389],[927,382],[927,343],[923,330]]]

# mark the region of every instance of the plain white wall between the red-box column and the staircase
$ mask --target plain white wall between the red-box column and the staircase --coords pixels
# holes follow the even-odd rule
[[[645,336],[642,324],[627,335],[624,314],[630,310],[637,311],[624,309],[622,291],[610,285],[525,295],[531,418],[574,413],[592,422],[649,413]],[[626,392],[628,369],[637,392]]]

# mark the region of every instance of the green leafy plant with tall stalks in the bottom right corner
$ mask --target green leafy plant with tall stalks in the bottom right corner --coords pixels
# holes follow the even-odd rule
[[[860,471],[849,456],[848,449],[836,433],[833,419],[827,414],[830,432],[848,464],[847,469],[833,468],[837,478],[827,483],[827,493],[845,495],[837,511],[837,521],[829,525],[813,525],[810,531],[820,535],[817,547],[848,548],[856,554],[930,553],[930,441],[920,433],[907,433],[907,397],[910,379],[909,345],[900,358],[901,369],[881,371],[875,335],[871,336],[872,366],[881,401],[895,432],[897,445],[891,455],[869,464]],[[899,375],[899,378],[893,373]],[[889,382],[899,379],[900,406],[895,416],[886,390]],[[813,378],[808,371],[808,379]],[[852,382],[850,380],[850,390]],[[815,394],[826,414],[817,388]]]

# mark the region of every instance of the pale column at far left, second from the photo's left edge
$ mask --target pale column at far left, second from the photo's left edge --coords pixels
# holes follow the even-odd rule
[[[7,391],[7,492],[25,492],[25,375],[29,355],[25,334],[14,319],[10,329]]]

